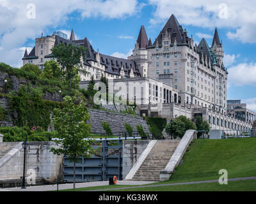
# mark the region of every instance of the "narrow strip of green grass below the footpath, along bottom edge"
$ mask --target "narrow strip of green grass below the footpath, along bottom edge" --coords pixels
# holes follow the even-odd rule
[[[239,180],[227,185],[216,183],[186,184],[177,186],[141,187],[111,191],[256,191],[256,180]]]

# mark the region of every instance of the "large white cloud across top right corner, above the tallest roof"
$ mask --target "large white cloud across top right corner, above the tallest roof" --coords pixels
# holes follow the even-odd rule
[[[182,25],[230,28],[228,38],[243,43],[256,43],[256,1],[254,0],[149,0],[156,6],[151,24],[165,22],[172,13]],[[220,8],[227,5],[227,10]],[[227,11],[227,12],[226,12]],[[224,15],[223,15],[224,12]],[[225,17],[227,15],[227,18]]]

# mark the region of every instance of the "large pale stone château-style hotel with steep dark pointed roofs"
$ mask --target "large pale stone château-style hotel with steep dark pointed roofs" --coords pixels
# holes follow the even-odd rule
[[[23,63],[37,64],[43,69],[45,61],[54,59],[51,48],[59,43],[88,48],[81,87],[86,88],[92,77],[99,80],[101,75],[113,84],[125,84],[129,88],[120,95],[136,101],[141,115],[168,119],[185,115],[191,120],[201,115],[212,129],[246,132],[252,128],[256,113],[239,100],[227,100],[228,71],[223,64],[223,43],[217,29],[210,47],[204,38],[199,45],[194,44],[193,36],[174,15],[154,43],[148,40],[142,25],[128,59],[100,54],[87,38],[76,40],[73,30],[69,40],[66,34],[54,32],[52,36],[36,38],[31,52],[26,50]]]

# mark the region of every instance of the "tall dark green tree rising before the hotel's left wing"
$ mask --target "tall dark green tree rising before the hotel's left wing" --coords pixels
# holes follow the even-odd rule
[[[77,82],[78,71],[83,71],[83,61],[81,57],[85,60],[86,48],[83,46],[74,46],[71,43],[68,45],[59,45],[52,48],[52,55],[57,59],[57,62],[61,66],[61,71],[63,76],[70,87],[72,87],[73,82]],[[74,84],[76,86],[76,84]]]

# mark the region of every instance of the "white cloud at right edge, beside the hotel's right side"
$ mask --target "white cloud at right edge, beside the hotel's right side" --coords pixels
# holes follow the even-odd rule
[[[228,69],[228,86],[256,85],[256,63],[241,63]]]

